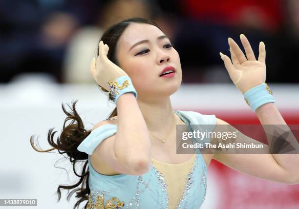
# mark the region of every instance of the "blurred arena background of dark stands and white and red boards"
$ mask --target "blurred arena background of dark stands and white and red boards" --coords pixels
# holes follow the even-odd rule
[[[73,207],[75,198],[68,202],[63,193],[56,203],[55,196],[58,184],[74,181],[70,163],[60,164],[67,176],[54,167],[62,156],[35,152],[29,138],[37,134],[49,148],[47,130],[60,133],[61,104],[73,99],[86,128],[107,118],[115,106],[97,88],[89,63],[107,27],[130,17],[155,21],[180,55],[183,83],[171,96],[174,109],[259,123],[219,56],[229,55],[228,37],[241,46],[243,33],[256,58],[259,42],[265,43],[266,82],[285,121],[299,124],[298,0],[1,0],[0,198],[38,198],[35,208],[43,209]],[[209,173],[202,208],[299,208],[298,185],[256,179],[216,161]]]

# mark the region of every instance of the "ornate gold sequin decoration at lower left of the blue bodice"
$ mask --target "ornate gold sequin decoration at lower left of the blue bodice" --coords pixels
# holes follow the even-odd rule
[[[125,202],[121,202],[118,198],[112,197],[110,200],[106,201],[104,204],[105,196],[103,193],[97,195],[95,198],[95,204],[92,204],[91,194],[89,194],[88,203],[86,209],[121,209]]]

